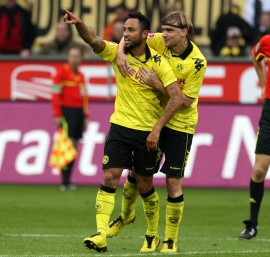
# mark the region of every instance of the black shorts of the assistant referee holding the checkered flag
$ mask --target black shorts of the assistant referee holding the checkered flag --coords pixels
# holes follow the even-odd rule
[[[80,139],[84,129],[84,113],[82,108],[62,107],[63,116],[68,125],[68,136]]]

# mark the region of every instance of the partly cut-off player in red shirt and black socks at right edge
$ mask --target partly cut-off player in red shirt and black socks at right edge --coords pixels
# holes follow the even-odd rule
[[[270,35],[263,36],[253,47],[253,65],[262,89],[263,108],[255,148],[255,164],[249,183],[250,218],[240,239],[252,239],[258,232],[258,216],[264,194],[264,180],[270,165]],[[267,62],[267,64],[266,64]]]

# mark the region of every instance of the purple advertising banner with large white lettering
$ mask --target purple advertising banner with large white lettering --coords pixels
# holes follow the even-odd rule
[[[93,102],[89,108],[91,122],[80,142],[73,178],[78,184],[99,185],[113,103]],[[200,104],[185,186],[248,187],[260,111],[260,104]],[[0,183],[59,184],[59,173],[48,165],[56,131],[50,103],[0,102],[0,120]],[[155,185],[164,182],[157,173]]]

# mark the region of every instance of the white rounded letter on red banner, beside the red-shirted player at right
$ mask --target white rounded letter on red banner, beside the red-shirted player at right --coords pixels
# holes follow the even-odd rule
[[[258,77],[253,67],[243,72],[239,84],[240,103],[257,103],[261,97],[261,88],[258,86]]]

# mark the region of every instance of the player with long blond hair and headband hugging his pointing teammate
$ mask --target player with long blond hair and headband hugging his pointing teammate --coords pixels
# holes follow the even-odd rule
[[[178,230],[184,210],[182,182],[198,122],[198,95],[207,61],[191,40],[193,25],[185,13],[168,14],[161,20],[161,29],[162,33],[149,34],[147,44],[168,60],[178,79],[183,97],[181,107],[160,134],[160,149],[165,155],[165,162],[160,171],[166,174],[168,193],[165,238],[161,252],[170,253],[178,251]],[[128,63],[121,50],[119,58],[119,70],[123,76],[127,76]],[[167,97],[158,77],[147,69],[141,69],[141,75],[147,84],[163,92],[164,106]],[[133,172],[130,172],[123,188],[121,215],[109,224],[108,237],[118,235],[123,226],[134,221],[137,195],[136,178]]]

